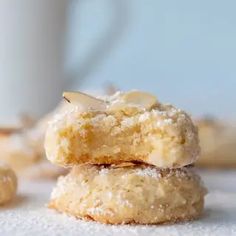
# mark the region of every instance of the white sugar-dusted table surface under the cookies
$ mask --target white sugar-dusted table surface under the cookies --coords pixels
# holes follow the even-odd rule
[[[200,174],[209,190],[202,219],[159,226],[111,226],[76,220],[47,209],[55,182],[20,181],[17,199],[1,207],[0,235],[236,235],[236,171]]]

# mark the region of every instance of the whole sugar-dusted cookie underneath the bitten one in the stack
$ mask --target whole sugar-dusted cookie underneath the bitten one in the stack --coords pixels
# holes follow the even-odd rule
[[[160,224],[198,218],[205,193],[191,168],[80,165],[58,179],[49,207],[107,224]]]

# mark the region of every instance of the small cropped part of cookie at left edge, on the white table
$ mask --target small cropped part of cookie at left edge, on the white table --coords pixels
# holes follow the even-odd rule
[[[11,201],[16,195],[17,178],[12,169],[0,164],[0,204]]]

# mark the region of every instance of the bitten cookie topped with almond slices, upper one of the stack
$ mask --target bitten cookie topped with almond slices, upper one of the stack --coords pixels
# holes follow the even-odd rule
[[[45,138],[47,157],[55,164],[145,162],[177,168],[198,157],[197,129],[191,118],[148,93],[64,96],[74,108],[55,116]]]

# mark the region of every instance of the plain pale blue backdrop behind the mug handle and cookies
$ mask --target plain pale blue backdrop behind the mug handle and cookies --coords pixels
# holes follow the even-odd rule
[[[79,71],[83,88],[112,82],[120,89],[154,92],[194,115],[231,119],[236,116],[235,9],[233,0],[74,0],[67,69],[79,71],[91,63]],[[99,60],[87,58],[103,40],[99,32],[117,20],[117,38],[106,42],[110,48],[101,43],[105,51],[98,50]]]

